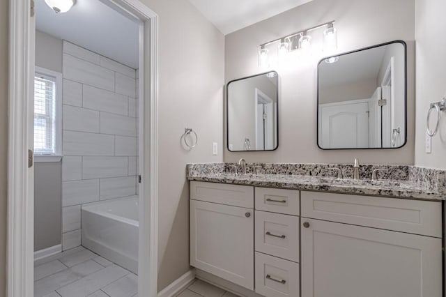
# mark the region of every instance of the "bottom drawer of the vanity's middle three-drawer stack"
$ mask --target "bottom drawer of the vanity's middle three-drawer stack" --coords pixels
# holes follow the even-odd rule
[[[266,297],[299,296],[299,264],[256,252],[256,293]]]

